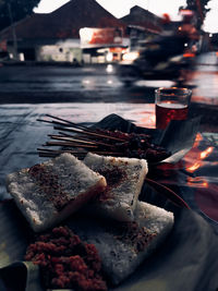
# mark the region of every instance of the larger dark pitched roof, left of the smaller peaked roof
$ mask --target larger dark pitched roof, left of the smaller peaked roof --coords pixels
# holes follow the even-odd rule
[[[34,13],[14,24],[17,39],[78,38],[82,27],[125,27],[95,0],[71,0],[48,14]],[[0,32],[1,39],[13,39],[12,26]]]

